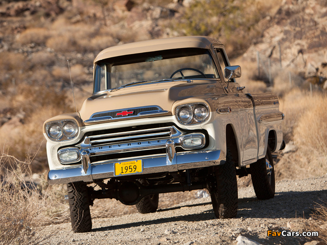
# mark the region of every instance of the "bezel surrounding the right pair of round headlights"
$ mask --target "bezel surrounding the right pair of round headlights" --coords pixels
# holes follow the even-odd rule
[[[195,109],[198,107],[203,107],[206,109],[206,114],[203,118],[197,117],[195,114]],[[179,113],[183,108],[188,108],[192,111],[192,118],[188,121],[184,121],[180,118]],[[175,108],[175,116],[178,120],[178,122],[182,125],[198,125],[203,124],[203,122],[207,121],[210,115],[209,106],[205,103],[188,103],[188,104],[182,104]]]

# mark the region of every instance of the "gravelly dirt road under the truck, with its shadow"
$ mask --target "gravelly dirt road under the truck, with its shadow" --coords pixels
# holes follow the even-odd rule
[[[274,199],[258,201],[252,186],[239,189],[237,218],[215,218],[210,198],[195,199],[156,213],[93,219],[88,233],[73,233],[71,224],[45,227],[51,244],[241,244],[238,236],[258,244],[304,244],[317,237],[267,236],[267,231],[313,232],[310,213],[327,201],[327,175],[276,183]],[[159,201],[160,202],[160,201]],[[242,237],[239,237],[241,239]],[[251,244],[251,243],[249,243]],[[252,243],[256,244],[256,243]]]

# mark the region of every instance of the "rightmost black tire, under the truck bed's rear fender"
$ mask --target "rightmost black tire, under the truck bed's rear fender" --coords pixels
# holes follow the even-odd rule
[[[256,198],[271,199],[275,195],[275,170],[269,146],[266,157],[250,165],[251,179]]]

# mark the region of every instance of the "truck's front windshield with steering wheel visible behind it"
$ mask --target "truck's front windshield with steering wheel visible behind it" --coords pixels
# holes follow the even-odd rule
[[[211,55],[203,48],[127,55],[96,64],[94,93],[137,82],[201,78],[219,78]]]

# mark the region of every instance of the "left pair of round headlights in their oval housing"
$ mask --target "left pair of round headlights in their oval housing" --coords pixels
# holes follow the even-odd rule
[[[46,134],[55,141],[73,139],[78,134],[78,126],[73,120],[48,122],[45,126]]]

